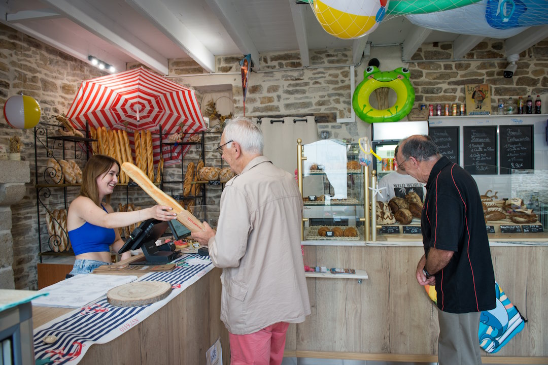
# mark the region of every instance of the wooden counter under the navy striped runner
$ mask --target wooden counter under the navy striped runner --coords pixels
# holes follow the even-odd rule
[[[94,344],[80,364],[206,364],[206,351],[220,338],[229,364],[229,335],[220,321],[221,269],[213,269],[153,315],[106,344]],[[37,328],[69,309],[32,308]]]

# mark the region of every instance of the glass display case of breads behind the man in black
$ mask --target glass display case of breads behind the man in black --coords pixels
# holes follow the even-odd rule
[[[548,223],[548,186],[545,181],[548,179],[548,170],[507,169],[485,164],[467,165],[464,168],[472,172],[478,186],[489,241],[546,242],[548,232],[544,227]],[[486,174],[486,171],[496,174]],[[372,215],[376,217],[373,221],[376,226],[373,241],[421,239],[420,215],[412,214],[413,218],[409,222],[398,221],[396,212],[405,207],[401,204],[399,207],[398,204],[386,207],[376,198],[373,200],[375,209]],[[410,206],[412,202],[406,200]]]

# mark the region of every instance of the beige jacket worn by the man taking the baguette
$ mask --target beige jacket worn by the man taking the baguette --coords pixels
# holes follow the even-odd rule
[[[225,185],[209,255],[222,267],[221,321],[233,334],[310,314],[301,253],[302,197],[292,175],[259,156]]]

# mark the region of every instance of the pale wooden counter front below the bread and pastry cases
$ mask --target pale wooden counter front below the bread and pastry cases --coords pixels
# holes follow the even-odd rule
[[[290,326],[286,355],[435,362],[437,309],[415,279],[424,251],[410,246],[305,246],[309,266],[367,271],[347,278],[307,278],[312,314]],[[548,246],[491,247],[495,279],[529,320],[484,363],[548,363]]]

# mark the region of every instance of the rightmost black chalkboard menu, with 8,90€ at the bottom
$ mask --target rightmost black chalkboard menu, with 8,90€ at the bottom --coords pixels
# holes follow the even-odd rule
[[[500,173],[533,169],[533,125],[500,126]]]

